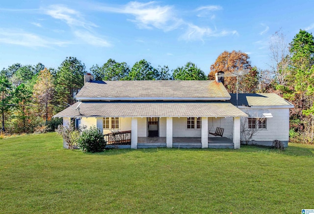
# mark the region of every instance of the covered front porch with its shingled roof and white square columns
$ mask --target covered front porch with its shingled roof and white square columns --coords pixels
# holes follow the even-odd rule
[[[228,102],[82,102],[79,107],[79,112],[67,108],[56,116],[62,115],[64,123],[70,117],[80,118],[81,125],[96,126],[104,134],[131,131],[132,149],[238,149],[240,117],[247,116]],[[223,137],[209,134],[216,127],[224,128]]]

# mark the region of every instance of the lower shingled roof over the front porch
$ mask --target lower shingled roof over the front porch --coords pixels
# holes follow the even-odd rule
[[[79,103],[53,117],[247,117],[229,102],[82,102],[78,112]]]

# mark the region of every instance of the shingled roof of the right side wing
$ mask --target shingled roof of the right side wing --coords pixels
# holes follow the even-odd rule
[[[230,95],[230,103],[236,106],[236,94]],[[238,106],[293,107],[287,100],[274,93],[238,94]]]

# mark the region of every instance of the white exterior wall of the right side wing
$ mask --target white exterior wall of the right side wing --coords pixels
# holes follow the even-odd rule
[[[240,108],[254,110],[254,108]],[[261,108],[259,108],[261,109]],[[252,144],[271,146],[273,140],[281,140],[288,146],[289,140],[289,108],[266,108],[273,115],[267,118],[266,129],[260,130],[252,138]],[[247,118],[241,118],[241,122]]]

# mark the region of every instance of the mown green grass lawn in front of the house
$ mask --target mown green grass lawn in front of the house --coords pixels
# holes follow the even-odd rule
[[[285,151],[62,149],[55,133],[0,139],[0,213],[301,213],[314,145]]]

